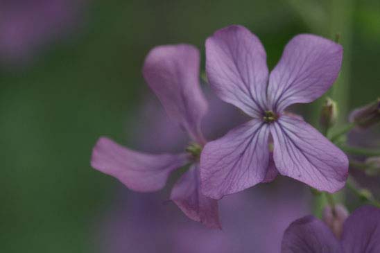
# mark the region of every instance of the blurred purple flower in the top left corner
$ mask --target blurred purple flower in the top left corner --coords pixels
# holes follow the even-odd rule
[[[17,63],[56,40],[78,21],[85,0],[0,1],[0,58]]]

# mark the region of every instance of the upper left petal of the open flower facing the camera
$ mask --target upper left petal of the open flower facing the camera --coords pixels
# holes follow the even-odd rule
[[[206,72],[225,102],[260,117],[266,103],[268,67],[259,38],[243,26],[228,26],[206,41]]]

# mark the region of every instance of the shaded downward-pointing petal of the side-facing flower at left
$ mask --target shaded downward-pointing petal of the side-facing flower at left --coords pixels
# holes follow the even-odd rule
[[[199,165],[193,164],[175,183],[171,200],[191,218],[213,229],[221,229],[218,214],[218,201],[207,198],[200,192]]]

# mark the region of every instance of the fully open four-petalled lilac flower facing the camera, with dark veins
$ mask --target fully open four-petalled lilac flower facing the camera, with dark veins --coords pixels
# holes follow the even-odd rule
[[[207,143],[200,158],[202,192],[215,199],[263,182],[273,159],[280,174],[320,191],[341,189],[348,159],[334,144],[284,110],[309,103],[338,76],[343,49],[316,35],[297,35],[269,74],[259,39],[243,26],[218,30],[206,42],[206,71],[211,87],[251,121]]]

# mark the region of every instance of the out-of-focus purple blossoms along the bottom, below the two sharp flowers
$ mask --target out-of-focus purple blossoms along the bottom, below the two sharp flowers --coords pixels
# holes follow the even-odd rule
[[[223,230],[192,223],[162,193],[123,189],[96,241],[106,253],[278,253],[292,220],[309,213],[309,191],[282,179],[220,201]]]

